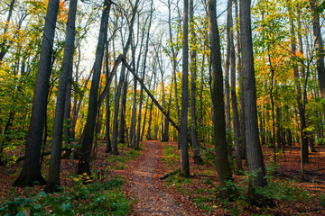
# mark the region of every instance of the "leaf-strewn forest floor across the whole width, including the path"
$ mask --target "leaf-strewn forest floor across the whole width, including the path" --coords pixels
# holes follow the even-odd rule
[[[246,175],[233,175],[235,184],[232,186],[238,193],[231,201],[218,198],[218,175],[211,154],[213,148],[206,147],[206,150],[201,152],[205,161],[203,165],[194,164],[190,157],[189,178],[170,175],[164,180],[160,178],[180,166],[180,150],[177,149],[176,142],[163,143],[148,140],[143,142],[141,151],[120,148],[119,156],[104,153],[104,148],[105,145],[98,145],[98,154],[92,163],[93,173],[97,176],[94,181],[103,182],[122,176],[124,184],[119,190],[124,193],[132,206],[127,209],[124,203],[125,206],[121,208],[126,210],[121,212],[128,212],[128,215],[325,215],[325,148],[323,147],[317,147],[318,152],[310,154],[310,163],[304,167],[305,181],[300,180],[299,148],[288,148],[285,154],[279,151],[276,154],[275,165],[273,149],[263,147],[269,175],[268,186],[261,193],[273,198],[275,202],[275,206],[265,207],[255,206],[247,201]],[[189,153],[191,155],[191,150]],[[47,176],[47,160],[48,157],[45,157],[43,176]],[[65,193],[65,196],[69,197],[69,202],[76,198],[73,193],[76,193],[77,189],[73,188],[77,185],[76,175],[74,175],[77,163],[77,160],[69,159],[62,159],[61,162],[61,186],[64,191],[70,192]],[[0,166],[0,179],[2,179],[0,204],[16,197],[29,197],[43,190],[43,185],[36,185],[33,188],[11,186],[19,175],[21,166],[22,162]],[[78,191],[80,192],[82,191]],[[100,188],[98,193],[101,193]],[[95,199],[92,201],[86,199],[82,200],[81,204],[90,206],[95,201]],[[97,206],[106,208],[102,205]],[[43,210],[52,212],[51,207],[45,206]],[[74,212],[75,215],[84,215],[82,211]]]

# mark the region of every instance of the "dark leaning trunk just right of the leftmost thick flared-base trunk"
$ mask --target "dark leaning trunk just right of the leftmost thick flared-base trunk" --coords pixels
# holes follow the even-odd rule
[[[52,193],[60,188],[60,157],[62,146],[63,120],[65,112],[65,101],[67,85],[70,76],[72,76],[72,63],[75,40],[75,23],[78,0],[70,0],[68,23],[66,30],[66,40],[64,45],[63,62],[60,70],[60,79],[58,87],[57,103],[55,107],[55,117],[53,123],[53,136],[51,145],[51,160],[49,177],[45,187],[45,192]]]

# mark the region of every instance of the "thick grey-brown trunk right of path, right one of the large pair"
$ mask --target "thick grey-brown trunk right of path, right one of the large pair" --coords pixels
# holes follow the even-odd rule
[[[266,180],[265,164],[263,161],[257,122],[255,69],[250,6],[250,0],[240,1],[240,38],[242,46],[242,69],[244,75],[246,157],[249,172],[255,173],[255,176],[250,179],[250,183],[254,187],[249,187],[249,193],[251,197],[256,200],[257,197],[255,196],[255,187],[265,187]]]

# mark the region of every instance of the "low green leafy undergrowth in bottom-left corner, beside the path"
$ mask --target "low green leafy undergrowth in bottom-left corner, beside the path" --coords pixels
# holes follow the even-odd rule
[[[124,180],[116,176],[103,183],[79,184],[70,192],[38,193],[32,198],[14,198],[3,204],[1,215],[126,215],[130,202],[124,197]]]

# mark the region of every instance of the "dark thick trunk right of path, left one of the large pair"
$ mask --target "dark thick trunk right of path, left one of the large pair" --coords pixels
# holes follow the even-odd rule
[[[226,138],[225,102],[223,94],[222,66],[220,39],[218,34],[216,0],[208,0],[209,4],[209,38],[210,55],[212,65],[212,118],[213,118],[213,142],[218,172],[218,182],[221,189],[227,187],[227,181],[231,181],[231,169],[228,161],[228,145]],[[230,189],[220,190],[222,197],[230,195]]]

